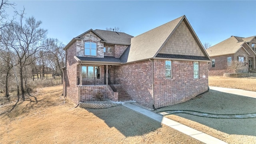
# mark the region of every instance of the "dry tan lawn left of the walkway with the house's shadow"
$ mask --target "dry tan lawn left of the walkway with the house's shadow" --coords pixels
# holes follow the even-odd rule
[[[41,88],[15,107],[0,106],[0,143],[202,143],[124,106],[74,108],[61,94],[62,86]]]

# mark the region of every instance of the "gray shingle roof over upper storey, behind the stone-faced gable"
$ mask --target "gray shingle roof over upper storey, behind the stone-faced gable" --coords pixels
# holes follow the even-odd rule
[[[124,32],[113,32],[109,30],[94,30],[94,32],[102,36],[102,38],[104,38],[106,42],[114,44],[130,45],[131,38],[133,38],[133,36]]]

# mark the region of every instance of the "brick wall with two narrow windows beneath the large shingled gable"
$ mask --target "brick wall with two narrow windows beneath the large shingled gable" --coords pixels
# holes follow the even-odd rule
[[[166,79],[165,60],[154,60],[156,108],[185,102],[206,90],[208,90],[208,62],[199,62],[199,79],[194,79],[193,62],[172,60],[172,78]]]

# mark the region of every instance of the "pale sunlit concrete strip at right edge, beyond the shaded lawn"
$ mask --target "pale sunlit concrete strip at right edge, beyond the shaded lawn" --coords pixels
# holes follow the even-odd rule
[[[226,92],[230,94],[237,94],[240,96],[248,96],[251,98],[256,98],[256,92],[248,91],[248,90],[240,90],[240,89],[235,89],[235,88],[221,88],[221,87],[214,87],[214,86],[209,86],[211,90],[217,90],[219,92]]]

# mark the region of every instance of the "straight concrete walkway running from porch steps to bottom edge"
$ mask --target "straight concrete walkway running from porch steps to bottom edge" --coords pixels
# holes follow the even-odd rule
[[[176,129],[184,134],[187,134],[188,136],[191,136],[192,138],[200,140],[201,142],[204,142],[206,144],[227,144],[226,142],[223,142],[222,140],[219,140],[218,138],[214,138],[208,134],[205,134],[203,132],[200,132],[198,130],[195,130],[193,128],[190,128],[188,126],[185,126],[185,125],[175,122],[173,120],[165,118],[163,116],[160,116],[154,112],[151,112],[151,111],[141,108],[139,106],[135,106],[134,104],[123,103],[123,106],[126,106],[127,108],[130,108],[136,112],[144,114],[145,116],[148,116],[158,122],[161,122],[162,124],[165,124],[166,126],[174,128],[174,129]]]

